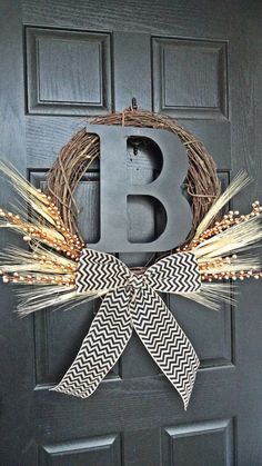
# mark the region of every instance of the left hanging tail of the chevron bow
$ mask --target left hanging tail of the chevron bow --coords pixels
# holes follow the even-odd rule
[[[107,294],[73,364],[52,390],[81,398],[92,395],[132,335],[129,299],[125,289]]]

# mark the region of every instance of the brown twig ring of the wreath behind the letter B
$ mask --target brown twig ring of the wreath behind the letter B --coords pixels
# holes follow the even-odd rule
[[[193,237],[198,225],[221,191],[215,162],[202,142],[173,118],[149,111],[139,111],[133,108],[95,118],[92,123],[163,129],[179,136],[189,157],[185,187],[192,199],[193,218],[190,237]],[[80,238],[81,231],[77,222],[78,208],[73,194],[83,173],[99,157],[98,136],[90,135],[85,129],[81,129],[61,149],[48,173],[48,194],[59,208],[67,227]]]

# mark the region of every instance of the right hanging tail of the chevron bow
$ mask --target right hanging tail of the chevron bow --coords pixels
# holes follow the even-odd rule
[[[135,331],[179,391],[187,410],[200,365],[192,344],[164,301],[151,288],[139,290],[129,309]]]

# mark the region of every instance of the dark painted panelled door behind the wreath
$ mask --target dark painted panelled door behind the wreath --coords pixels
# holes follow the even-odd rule
[[[261,2],[1,0],[0,8],[0,152],[32,182],[43,182],[83,116],[122,110],[135,97],[192,130],[224,185],[248,169],[255,181],[238,207],[261,195]],[[130,177],[150,181],[158,160],[135,160]],[[95,241],[99,169],[78,199],[84,235]],[[1,181],[1,204],[11,200]],[[130,209],[133,239],[149,239],[152,206]],[[133,221],[141,215],[143,229]],[[9,239],[1,235],[1,245]],[[262,465],[259,282],[243,284],[236,308],[219,313],[170,297],[201,358],[187,413],[135,337],[90,399],[50,393],[97,304],[19,320],[16,303],[1,286],[1,465]]]

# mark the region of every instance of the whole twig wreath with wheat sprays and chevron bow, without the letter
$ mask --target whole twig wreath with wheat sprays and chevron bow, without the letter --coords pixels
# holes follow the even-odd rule
[[[9,246],[0,254],[2,280],[24,286],[19,294],[21,316],[102,298],[74,361],[53,390],[82,398],[92,395],[134,330],[187,409],[200,361],[159,293],[181,295],[214,309],[220,300],[232,303],[232,280],[262,276],[260,258],[245,254],[262,239],[262,208],[254,201],[250,214],[229,211],[218,220],[249,177],[240,172],[220,195],[212,157],[173,119],[132,108],[93,122],[159,128],[180,137],[189,156],[185,182],[193,211],[187,242],[140,272],[110,254],[84,246],[73,194],[99,157],[99,140],[83,129],[62,148],[48,176],[48,194],[0,161],[0,171],[24,205],[23,209],[12,206],[14,212],[1,208],[0,227],[22,235],[29,246]]]

